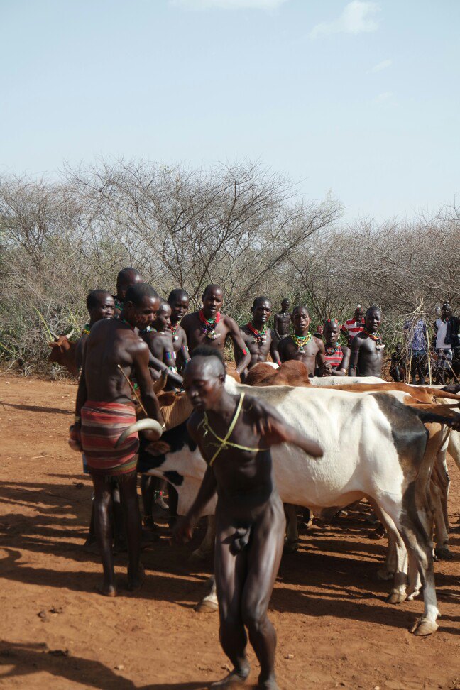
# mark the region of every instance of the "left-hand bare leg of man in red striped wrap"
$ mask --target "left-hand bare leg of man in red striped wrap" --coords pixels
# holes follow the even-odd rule
[[[94,527],[104,570],[100,591],[105,596],[116,596],[114,554],[112,551],[111,487],[105,477],[92,476],[94,484]]]

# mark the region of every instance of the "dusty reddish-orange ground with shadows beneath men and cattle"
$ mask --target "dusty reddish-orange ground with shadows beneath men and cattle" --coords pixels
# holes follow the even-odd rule
[[[225,674],[216,614],[197,614],[207,566],[168,540],[143,552],[136,596],[94,591],[101,566],[82,550],[91,487],[67,446],[76,388],[0,376],[0,686],[27,689],[199,689]],[[451,522],[460,476],[451,466]],[[360,520],[314,525],[286,556],[270,605],[283,690],[460,688],[460,533],[436,564],[442,618],[427,638],[407,632],[422,602],[385,603],[373,580],[384,540]],[[117,557],[119,583],[125,556]],[[254,664],[251,680],[256,679]]]

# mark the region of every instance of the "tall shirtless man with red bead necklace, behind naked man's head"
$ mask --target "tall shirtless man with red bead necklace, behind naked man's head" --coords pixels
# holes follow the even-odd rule
[[[235,355],[237,348],[243,354],[236,365],[236,372],[241,375],[248,368],[251,355],[246,349],[236,321],[220,312],[224,302],[224,293],[219,285],[208,285],[202,294],[202,302],[203,307],[199,312],[187,314],[182,319],[181,326],[185,330],[190,352],[193,352],[198,345],[210,345],[223,355],[226,338],[230,337]]]

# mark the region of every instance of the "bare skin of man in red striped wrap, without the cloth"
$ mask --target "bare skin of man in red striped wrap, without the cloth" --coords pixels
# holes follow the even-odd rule
[[[131,405],[132,392],[124,378],[136,376],[141,400],[149,417],[163,424],[160,405],[152,388],[148,370],[148,346],[138,336],[137,329],[145,329],[155,318],[160,306],[158,298],[144,297],[141,305],[132,302],[124,305],[121,318],[103,319],[91,330],[84,348],[82,376],[77,392],[75,415],[87,400],[103,403],[126,403]],[[80,441],[80,420],[75,422],[71,437]],[[92,476],[94,484],[95,529],[102,556],[104,580],[101,593],[116,596],[114,578],[114,557],[111,543],[111,486],[104,477]],[[136,477],[126,478],[119,483],[121,505],[124,510],[126,536],[128,540],[128,589],[141,586],[141,514],[137,496]]]

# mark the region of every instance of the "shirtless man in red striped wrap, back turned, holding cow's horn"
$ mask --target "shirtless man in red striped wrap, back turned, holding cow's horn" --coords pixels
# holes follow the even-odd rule
[[[120,447],[121,432],[136,421],[131,385],[135,373],[148,416],[163,425],[160,406],[148,371],[148,346],[136,329],[153,322],[160,300],[145,283],[126,292],[120,319],[102,319],[91,329],[84,347],[82,376],[75,405],[72,441],[80,444],[94,484],[95,527],[104,569],[101,592],[116,596],[111,543],[111,479],[119,482],[128,540],[128,589],[141,586],[141,514],[137,496],[138,438],[131,436]],[[158,438],[158,434],[156,435]]]

